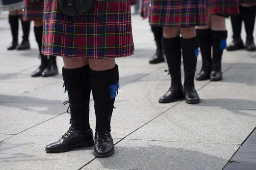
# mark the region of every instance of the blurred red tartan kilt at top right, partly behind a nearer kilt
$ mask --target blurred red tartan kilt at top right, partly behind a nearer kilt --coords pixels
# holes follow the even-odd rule
[[[238,0],[208,0],[208,15],[230,16],[239,14]]]

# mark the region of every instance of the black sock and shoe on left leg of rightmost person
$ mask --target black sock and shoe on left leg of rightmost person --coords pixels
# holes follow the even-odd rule
[[[227,51],[236,51],[244,49],[244,42],[241,39],[241,28],[242,28],[242,6],[239,6],[239,15],[231,16],[231,24],[233,30],[233,40],[228,45]]]

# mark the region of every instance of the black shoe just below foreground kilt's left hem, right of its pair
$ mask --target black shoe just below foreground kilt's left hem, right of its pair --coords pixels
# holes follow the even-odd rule
[[[42,77],[51,77],[58,74],[58,67],[56,63],[56,56],[49,56],[47,67],[42,72]]]

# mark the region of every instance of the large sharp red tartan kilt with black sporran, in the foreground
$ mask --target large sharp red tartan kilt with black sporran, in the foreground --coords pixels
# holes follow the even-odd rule
[[[130,0],[97,0],[86,14],[63,14],[57,0],[44,0],[42,53],[73,58],[134,54]]]

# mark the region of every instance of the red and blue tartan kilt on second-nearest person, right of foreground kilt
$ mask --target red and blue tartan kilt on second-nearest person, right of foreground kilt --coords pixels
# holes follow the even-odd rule
[[[149,23],[160,27],[207,25],[206,0],[151,0]]]

